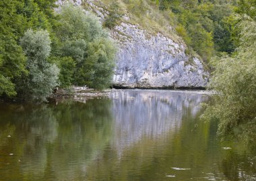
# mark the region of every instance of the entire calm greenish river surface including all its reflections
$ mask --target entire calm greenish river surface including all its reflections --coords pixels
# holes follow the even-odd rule
[[[256,153],[199,120],[209,100],[133,90],[0,104],[0,180],[256,180]]]

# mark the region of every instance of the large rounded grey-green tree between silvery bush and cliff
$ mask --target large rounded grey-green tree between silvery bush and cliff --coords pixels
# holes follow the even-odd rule
[[[73,58],[72,83],[98,89],[108,86],[113,75],[115,46],[99,19],[71,5],[62,7],[59,17],[58,56]]]

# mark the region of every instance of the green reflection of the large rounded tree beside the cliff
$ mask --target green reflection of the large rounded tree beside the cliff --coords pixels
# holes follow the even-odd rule
[[[71,101],[54,108],[59,136],[52,148],[51,167],[57,180],[84,178],[88,162],[97,159],[110,140],[110,109],[108,99],[92,99],[86,104]]]

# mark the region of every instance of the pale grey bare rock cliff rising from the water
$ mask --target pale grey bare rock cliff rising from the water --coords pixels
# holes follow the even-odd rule
[[[205,87],[208,72],[185,46],[170,38],[148,34],[137,25],[121,23],[112,32],[119,42],[113,84],[125,88]]]

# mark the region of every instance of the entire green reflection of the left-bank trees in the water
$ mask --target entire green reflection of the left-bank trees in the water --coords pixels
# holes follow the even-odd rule
[[[19,107],[6,108],[5,114],[0,111],[7,119],[0,127],[0,153],[7,152],[4,160],[0,158],[4,180],[82,180],[88,162],[98,157],[111,137],[107,99],[28,105],[17,111]]]

